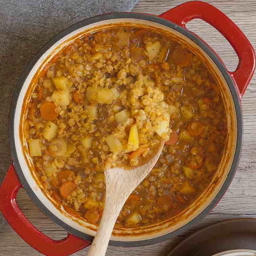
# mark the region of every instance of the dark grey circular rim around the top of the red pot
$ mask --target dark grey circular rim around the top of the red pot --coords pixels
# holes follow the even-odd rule
[[[110,240],[109,244],[112,246],[123,246],[123,247],[137,247],[137,246],[146,246],[149,244],[154,244],[158,242],[165,241],[167,239],[170,239],[174,236],[177,236],[178,234],[190,229],[191,227],[195,226],[202,218],[204,218],[217,204],[217,202],[221,199],[221,197],[224,195],[226,190],[228,189],[236,168],[238,166],[240,154],[241,154],[241,148],[242,148],[242,140],[243,140],[243,122],[242,122],[242,111],[241,111],[241,103],[240,99],[238,97],[236,87],[232,81],[232,79],[229,76],[229,73],[226,69],[226,67],[222,64],[220,59],[214,52],[212,51],[209,46],[207,46],[204,42],[202,42],[199,38],[197,38],[195,35],[190,33],[188,30],[184,29],[183,27],[180,27],[176,25],[175,23],[172,23],[166,19],[149,15],[149,14],[142,14],[142,13],[113,13],[113,14],[105,14],[105,15],[100,15],[96,16],[93,18],[89,18],[83,21],[80,21],[67,29],[63,30],[60,32],[57,36],[52,38],[49,42],[47,42],[39,51],[38,53],[34,56],[34,58],[30,61],[28,66],[25,68],[17,86],[14,91],[12,103],[11,103],[11,108],[10,108],[10,113],[9,113],[9,145],[10,145],[10,150],[12,152],[12,159],[13,159],[13,164],[16,170],[16,173],[18,175],[18,178],[24,187],[24,189],[27,191],[27,194],[29,197],[33,200],[33,202],[37,205],[37,207],[47,216],[49,217],[52,221],[54,221],[57,225],[60,227],[64,228],[66,231],[69,233],[78,236],[82,239],[85,239],[87,241],[92,241],[93,236],[90,236],[88,234],[85,234],[81,231],[78,231],[74,229],[73,227],[67,225],[65,222],[63,222],[61,219],[56,217],[54,214],[52,214],[39,200],[39,198],[36,196],[35,192],[33,189],[29,186],[23,172],[21,169],[21,166],[18,161],[18,156],[17,156],[17,151],[15,148],[15,141],[14,141],[14,117],[15,117],[15,111],[16,111],[16,106],[17,106],[17,101],[18,97],[21,91],[21,88],[23,86],[24,81],[26,80],[30,70],[33,68],[33,66],[36,64],[36,62],[39,60],[39,58],[45,53],[46,50],[48,50],[53,44],[55,44],[57,41],[62,39],[64,36],[70,34],[72,31],[77,30],[83,26],[93,24],[95,22],[103,21],[103,20],[111,20],[111,19],[122,19],[122,18],[128,18],[128,19],[139,19],[139,20],[147,20],[147,21],[152,21],[155,23],[159,23],[162,25],[165,25],[167,27],[170,27],[179,33],[183,34],[184,36],[188,37],[191,39],[194,43],[196,43],[201,49],[203,49],[206,54],[213,60],[213,62],[216,64],[220,72],[222,73],[224,79],[226,80],[228,87],[230,89],[234,104],[235,104],[235,111],[236,111],[236,117],[237,117],[237,144],[236,144],[236,150],[235,150],[235,155],[233,159],[232,166],[230,168],[230,171],[228,173],[228,176],[222,185],[220,191],[218,194],[215,196],[215,198],[212,200],[212,202],[205,208],[204,211],[202,211],[198,216],[196,216],[193,220],[188,222],[185,226],[162,236],[156,237],[156,238],[151,238],[147,240],[141,240],[141,241],[113,241]]]

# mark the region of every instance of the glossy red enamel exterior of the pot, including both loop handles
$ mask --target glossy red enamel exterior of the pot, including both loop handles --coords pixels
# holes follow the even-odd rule
[[[236,70],[229,72],[229,74],[237,86],[237,93],[241,99],[255,69],[254,49],[242,31],[225,14],[220,12],[220,10],[208,3],[200,1],[191,1],[178,5],[161,14],[159,17],[184,28],[186,28],[188,21],[199,18],[215,27],[228,40],[239,58]],[[202,39],[200,38],[200,40]],[[216,54],[216,56],[218,55]],[[22,188],[22,185],[19,182],[13,165],[11,165],[0,187],[0,211],[13,229],[28,244],[37,251],[52,256],[70,255],[90,244],[88,241],[71,234],[68,234],[62,240],[55,241],[41,233],[27,220],[16,204],[16,195],[20,188]]]

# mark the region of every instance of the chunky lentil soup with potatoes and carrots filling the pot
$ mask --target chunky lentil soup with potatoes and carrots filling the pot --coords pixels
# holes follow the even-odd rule
[[[135,228],[176,215],[207,188],[227,119],[219,87],[197,56],[156,32],[123,27],[84,35],[46,64],[23,133],[44,188],[96,225],[104,168],[143,164],[165,140],[116,221],[115,228]]]

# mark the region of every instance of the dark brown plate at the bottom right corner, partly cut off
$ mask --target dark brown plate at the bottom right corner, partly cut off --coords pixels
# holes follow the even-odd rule
[[[256,250],[256,218],[215,223],[189,236],[168,256],[211,256],[236,249]]]

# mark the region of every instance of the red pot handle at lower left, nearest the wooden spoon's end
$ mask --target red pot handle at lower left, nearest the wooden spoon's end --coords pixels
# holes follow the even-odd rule
[[[90,244],[69,233],[66,238],[58,241],[41,233],[28,221],[16,203],[16,195],[20,188],[22,185],[11,164],[0,187],[0,211],[17,234],[30,246],[45,255],[55,256],[70,255]]]

